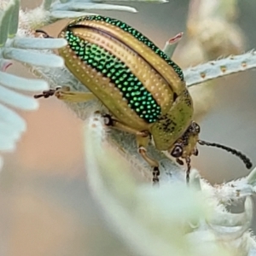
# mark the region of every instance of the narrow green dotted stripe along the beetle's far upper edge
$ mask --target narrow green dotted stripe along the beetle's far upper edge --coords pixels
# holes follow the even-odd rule
[[[101,20],[113,26],[118,26],[125,32],[130,33],[134,38],[141,41],[143,44],[147,45],[150,49],[154,51],[155,54],[159,55],[164,61],[166,61],[166,63],[170,65],[173,68],[173,70],[177,73],[178,77],[182,81],[184,80],[183,71],[180,67],[177,66],[176,63],[174,63],[161,49],[159,49],[152,41],[150,41],[147,37],[145,37],[141,32],[138,32],[135,28],[129,26],[125,22],[121,20],[109,18],[109,17],[104,17],[101,15],[90,15],[90,16],[83,16],[77,20],[74,20],[67,27],[76,26],[76,24],[79,21],[83,21],[83,20]]]

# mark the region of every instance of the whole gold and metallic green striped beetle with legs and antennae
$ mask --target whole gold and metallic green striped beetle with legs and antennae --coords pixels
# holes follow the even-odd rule
[[[138,153],[152,167],[153,183],[159,182],[160,170],[147,154],[149,142],[169,152],[178,164],[185,161],[187,182],[197,143],[223,148],[252,167],[236,149],[199,139],[200,126],[193,121],[193,102],[182,69],[141,32],[121,20],[86,15],[69,22],[59,38],[67,40],[67,46],[58,50],[67,69],[90,92],[63,86],[35,97],[100,100],[109,111],[102,114],[106,125],[135,134]]]

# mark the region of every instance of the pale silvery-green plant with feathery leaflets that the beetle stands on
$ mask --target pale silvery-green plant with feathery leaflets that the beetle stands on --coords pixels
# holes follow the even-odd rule
[[[26,12],[19,11],[19,0],[3,1],[0,7],[0,101],[24,110],[36,109],[38,102],[6,87],[44,90],[47,88],[45,80],[52,88],[69,85],[72,90],[87,90],[67,71],[63,60],[51,51],[67,42],[33,38],[35,29],[64,17],[91,14],[86,12],[91,9],[136,11],[131,7],[82,0],[45,0],[38,9]],[[176,39],[166,43],[164,50],[170,57]],[[6,73],[12,60],[25,64],[40,79],[22,79]],[[256,55],[250,51],[189,67],[184,70],[184,76],[187,86],[191,87],[254,67]],[[148,152],[160,161],[162,172],[160,188],[153,188],[145,182],[150,180],[151,173],[137,154],[133,137],[121,131],[106,131],[101,115],[92,111],[98,108],[98,102],[69,107],[84,119],[85,167],[92,195],[102,207],[110,227],[134,254],[255,254],[255,240],[248,229],[253,218],[251,196],[255,192],[256,169],[248,177],[218,187],[212,187],[193,170],[188,188],[180,166],[151,145]],[[0,149],[14,149],[20,132],[25,130],[25,121],[13,110],[0,105]],[[136,179],[131,169],[141,172],[143,181]],[[244,212],[233,214],[226,210],[231,201],[241,199],[245,199]]]

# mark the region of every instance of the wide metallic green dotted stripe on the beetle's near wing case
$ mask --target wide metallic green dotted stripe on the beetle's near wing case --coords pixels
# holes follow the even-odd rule
[[[88,66],[96,68],[103,77],[109,78],[110,82],[123,93],[128,106],[137,115],[148,123],[154,123],[160,116],[160,105],[154,100],[152,94],[143,86],[143,83],[131,73],[125,62],[120,61],[115,55],[97,44],[75,36],[67,30],[64,37],[73,52]]]

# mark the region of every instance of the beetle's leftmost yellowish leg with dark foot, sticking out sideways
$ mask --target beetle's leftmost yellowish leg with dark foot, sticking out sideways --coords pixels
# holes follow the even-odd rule
[[[91,92],[71,91],[68,86],[56,87],[55,89],[44,90],[42,94],[35,95],[35,98],[48,98],[55,96],[61,101],[66,102],[86,102],[96,98]]]

